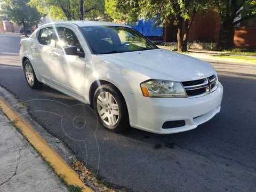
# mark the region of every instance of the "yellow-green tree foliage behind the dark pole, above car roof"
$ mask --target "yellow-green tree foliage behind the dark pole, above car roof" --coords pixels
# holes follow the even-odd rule
[[[29,4],[36,7],[42,14],[48,14],[54,19],[79,20],[80,0],[30,0]],[[97,18],[104,12],[103,0],[84,0],[84,16],[86,18]]]

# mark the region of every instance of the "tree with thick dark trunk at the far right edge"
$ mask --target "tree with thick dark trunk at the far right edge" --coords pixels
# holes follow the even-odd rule
[[[234,27],[243,20],[256,16],[255,0],[214,0],[222,19],[220,46],[231,49],[234,41]],[[235,19],[238,19],[234,22]]]

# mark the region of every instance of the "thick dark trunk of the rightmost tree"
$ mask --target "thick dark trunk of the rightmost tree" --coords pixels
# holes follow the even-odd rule
[[[220,46],[222,49],[230,50],[233,47],[233,42],[233,20],[223,21],[220,36]]]

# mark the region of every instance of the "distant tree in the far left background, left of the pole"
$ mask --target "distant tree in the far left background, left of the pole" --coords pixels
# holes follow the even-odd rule
[[[23,25],[25,36],[27,35],[26,23],[35,25],[41,21],[41,14],[29,6],[29,0],[2,0],[1,12],[6,14],[13,22]]]

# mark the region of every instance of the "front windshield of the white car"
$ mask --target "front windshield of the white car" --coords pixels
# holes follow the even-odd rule
[[[93,54],[123,53],[158,49],[146,37],[130,27],[81,27]]]

